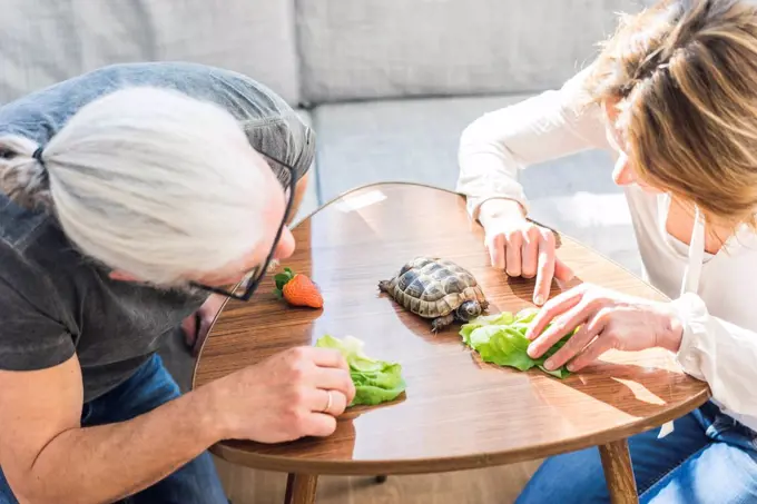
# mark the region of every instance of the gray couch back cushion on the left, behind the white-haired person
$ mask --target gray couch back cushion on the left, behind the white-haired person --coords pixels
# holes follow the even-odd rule
[[[0,103],[95,68],[186,60],[299,100],[294,0],[0,0]]]

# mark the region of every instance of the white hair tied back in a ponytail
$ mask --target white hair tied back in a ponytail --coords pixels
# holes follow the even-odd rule
[[[45,146],[0,137],[0,188],[48,206],[83,254],[157,285],[217,270],[260,241],[265,170],[234,117],[129,88],[82,107]],[[269,175],[273,177],[273,174]]]

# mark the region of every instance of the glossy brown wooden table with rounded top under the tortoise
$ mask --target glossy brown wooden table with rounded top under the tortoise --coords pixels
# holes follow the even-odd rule
[[[449,191],[380,184],[342,196],[296,226],[297,250],[283,266],[318,284],[323,310],[286,307],[273,296],[272,278],[252,302],[228,302],[201,350],[194,386],[328,333],[358,337],[370,356],[400,362],[406,393],[389,405],[348,411],[328,438],[281,445],[228,441],[212,452],[288,473],[285,502],[309,504],[321,474],[459,471],[599,445],[612,503],[638,502],[626,438],[700,406],[708,387],[682,374],[661,349],[608,353],[560,381],[482,363],[462,344],[459,326],[434,336],[427,320],[401,309],[376,286],[415,255],[469,268],[490,313],[532,306],[533,280],[508,279],[489,266],[482,229],[464,205]],[[568,237],[559,237],[559,247],[577,281],[665,299]],[[554,285],[552,295],[558,291]]]

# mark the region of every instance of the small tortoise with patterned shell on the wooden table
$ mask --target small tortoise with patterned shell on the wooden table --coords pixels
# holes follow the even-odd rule
[[[378,281],[378,290],[389,294],[411,313],[431,318],[436,333],[453,322],[469,322],[489,308],[481,286],[469,270],[440,257],[411,259],[396,276]]]

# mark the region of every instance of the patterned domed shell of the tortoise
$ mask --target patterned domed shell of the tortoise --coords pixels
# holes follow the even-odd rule
[[[407,309],[425,317],[439,317],[468,299],[476,299],[475,278],[456,264],[440,258],[417,257],[395,277],[394,297]]]

